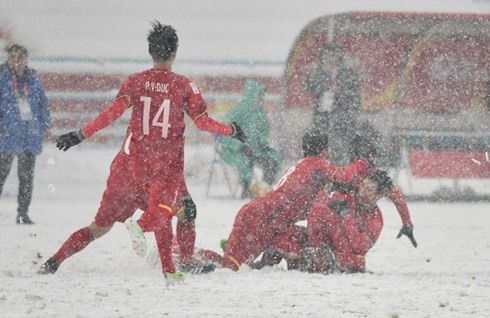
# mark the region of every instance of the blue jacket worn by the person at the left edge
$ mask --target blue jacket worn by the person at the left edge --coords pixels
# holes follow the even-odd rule
[[[14,89],[14,76],[7,64],[0,66],[0,152],[40,154],[45,131],[51,126],[51,114],[44,87],[36,71],[27,68],[24,82],[17,80],[18,89]],[[17,91],[20,97],[26,95],[31,106],[32,119],[22,120],[17,103]]]

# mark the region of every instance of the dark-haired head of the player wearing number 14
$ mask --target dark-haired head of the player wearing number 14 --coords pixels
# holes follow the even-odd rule
[[[179,46],[177,31],[172,26],[162,25],[156,20],[152,22],[152,29],[148,32],[147,40],[148,52],[154,61],[168,60]]]

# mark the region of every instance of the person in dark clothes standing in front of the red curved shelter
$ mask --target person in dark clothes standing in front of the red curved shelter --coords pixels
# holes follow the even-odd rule
[[[305,80],[314,97],[313,129],[329,135],[330,160],[337,165],[349,163],[346,151],[356,133],[361,107],[361,89],[356,73],[344,63],[344,53],[328,43],[317,67]]]

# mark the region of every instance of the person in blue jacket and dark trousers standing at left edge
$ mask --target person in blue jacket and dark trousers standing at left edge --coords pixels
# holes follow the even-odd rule
[[[33,224],[28,212],[34,166],[51,124],[44,87],[36,71],[27,67],[28,56],[25,47],[14,44],[7,49],[7,62],[0,65],[0,195],[17,157],[17,224]]]

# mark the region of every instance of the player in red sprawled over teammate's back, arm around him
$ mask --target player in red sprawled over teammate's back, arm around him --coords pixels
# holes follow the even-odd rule
[[[285,229],[305,220],[318,192],[329,181],[360,183],[371,170],[367,160],[337,168],[328,158],[326,134],[306,133],[304,158],[291,167],[274,190],[243,206],[226,242],[222,266],[237,271],[251,264]]]

